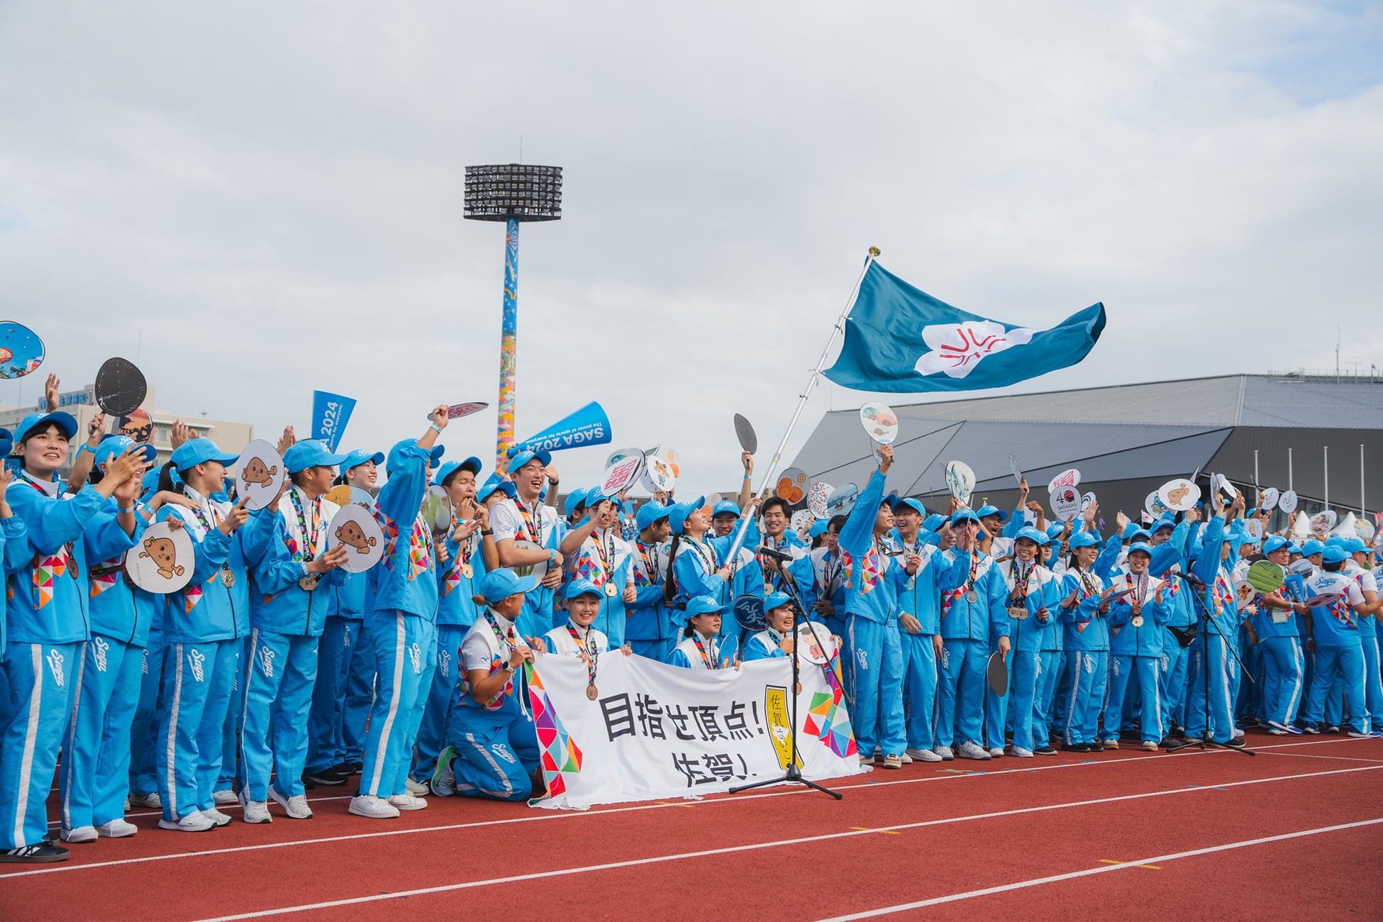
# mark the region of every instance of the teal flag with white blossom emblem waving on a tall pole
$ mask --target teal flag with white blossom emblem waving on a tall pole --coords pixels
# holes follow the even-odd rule
[[[824,373],[842,387],[895,394],[1007,387],[1075,365],[1104,329],[1104,304],[1034,330],[967,314],[874,263]]]

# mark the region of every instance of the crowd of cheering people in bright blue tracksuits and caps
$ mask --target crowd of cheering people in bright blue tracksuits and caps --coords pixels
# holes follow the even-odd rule
[[[181,427],[158,467],[101,417],[79,441],[55,402],[3,434],[0,860],[134,835],[136,807],[180,832],[230,824],[232,806],[249,824],[274,822],[271,805],[310,818],[314,785],[354,784],[349,810],[366,818],[436,796],[523,800],[542,788],[520,701],[535,651],[592,670],[611,652],[733,669],[792,655],[804,619],[837,640],[860,760],[882,769],[1243,746],[1253,724],[1383,734],[1372,549],[1259,543],[1245,523],[1265,513],[1242,495],[1147,527],[1120,514],[1108,536],[1095,507],[1048,525],[1026,484],[1011,513],[929,513],[885,495],[882,446],[849,514],[804,534],[784,499],[751,498],[748,455],[739,502],[660,495],[626,514],[593,488],[559,513],[550,455],[520,451],[483,477],[477,458],[441,462],[447,423],[436,408],[387,453],[288,431],[289,478],[257,511],[227,495],[238,458]],[[386,538],[358,574],[326,549],[339,484],[373,495]],[[429,488],[451,509],[436,531]],[[191,582],[166,596],[124,567],[160,521],[196,552]],[[1245,601],[1257,558],[1286,582]],[[763,623],[737,622],[743,596],[762,600]]]

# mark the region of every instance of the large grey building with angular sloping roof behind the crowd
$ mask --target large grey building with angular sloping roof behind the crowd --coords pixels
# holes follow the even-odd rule
[[[1330,445],[1332,506],[1359,503],[1359,444],[1369,464],[1383,462],[1383,383],[1229,375],[1180,382],[1093,387],[1044,394],[981,397],[893,406],[899,435],[888,489],[946,496],[945,467],[964,460],[975,496],[1007,503],[1015,495],[1008,453],[1046,503],[1041,487],[1077,467],[1083,488],[1106,507],[1130,514],[1171,477],[1212,470],[1241,485],[1261,460],[1263,487],[1288,487],[1288,449],[1296,449],[1293,485],[1303,509],[1324,499],[1321,446]],[[873,444],[855,409],[827,413],[792,466],[833,485],[863,487],[875,469]],[[1254,458],[1260,449],[1261,458]],[[1380,473],[1383,473],[1383,464]],[[1376,496],[1383,500],[1383,481]]]

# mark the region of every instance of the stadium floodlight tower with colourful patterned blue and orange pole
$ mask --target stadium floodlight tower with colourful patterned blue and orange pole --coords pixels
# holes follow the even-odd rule
[[[519,340],[519,223],[561,220],[561,167],[498,163],[466,167],[466,218],[505,223],[505,311],[499,332],[499,412],[495,470],[508,470],[514,444]]]

